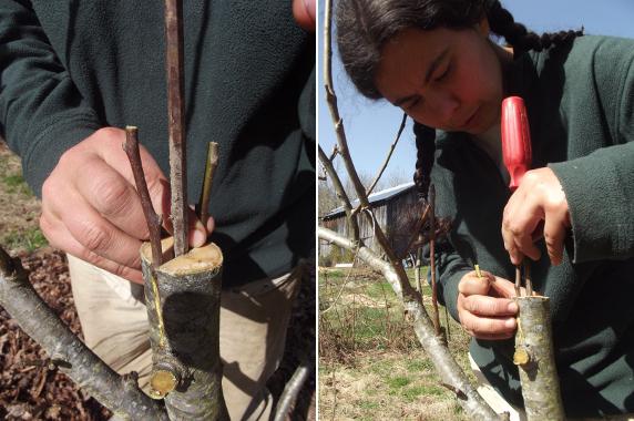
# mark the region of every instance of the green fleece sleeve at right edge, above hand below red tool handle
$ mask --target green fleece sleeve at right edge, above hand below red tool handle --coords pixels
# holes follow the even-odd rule
[[[600,53],[586,76],[599,86],[610,145],[549,165],[569,203],[574,263],[634,257],[634,54]]]

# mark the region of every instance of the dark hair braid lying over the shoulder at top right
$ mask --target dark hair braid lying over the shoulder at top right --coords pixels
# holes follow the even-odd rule
[[[526,27],[515,22],[511,12],[502,7],[499,0],[490,3],[487,10],[491,31],[504,37],[507,42],[519,52],[535,50],[542,51],[551,45],[564,44],[576,37],[583,35],[583,28],[579,31],[559,31],[553,33],[536,33],[529,31]]]

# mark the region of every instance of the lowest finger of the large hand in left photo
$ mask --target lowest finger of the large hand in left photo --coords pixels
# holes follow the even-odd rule
[[[49,239],[51,246],[63,249],[64,251],[84,261],[88,261],[114,275],[121,276],[122,278],[136,284],[143,284],[143,276],[141,270],[121,265],[116,261],[112,261],[108,258],[99,256],[93,251],[90,251],[83,245],[81,245],[65,229],[65,227],[63,227],[63,225],[51,223],[45,215],[42,215],[40,218],[40,227],[42,228],[44,236]]]

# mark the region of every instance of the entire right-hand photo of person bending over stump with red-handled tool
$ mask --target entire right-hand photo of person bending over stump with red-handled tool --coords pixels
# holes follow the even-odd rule
[[[634,3],[318,10],[319,419],[634,419]]]

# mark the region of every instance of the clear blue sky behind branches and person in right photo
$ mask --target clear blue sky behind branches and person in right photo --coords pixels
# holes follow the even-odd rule
[[[336,1],[336,0],[334,0]],[[634,1],[632,0],[502,0],[515,21],[534,32],[579,29],[585,33],[634,38]],[[324,0],[319,0],[318,30],[318,138],[329,153],[336,143],[328,106],[324,100],[323,33]],[[350,153],[358,172],[374,177],[396,136],[402,112],[385,101],[370,101],[359,95],[342,71],[336,48],[333,53],[333,78],[339,113],[344,119]],[[403,132],[386,174],[411,179],[416,148],[411,123]]]

